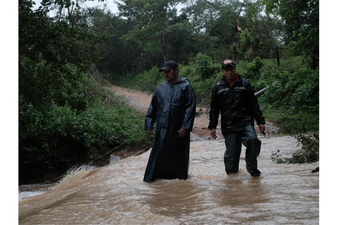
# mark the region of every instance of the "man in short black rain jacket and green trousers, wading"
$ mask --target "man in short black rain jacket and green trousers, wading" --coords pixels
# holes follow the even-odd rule
[[[261,151],[261,141],[254,129],[254,118],[260,133],[265,130],[265,120],[251,85],[240,74],[236,74],[236,64],[230,60],[222,62],[223,77],[212,89],[210,103],[210,123],[208,128],[212,138],[217,138],[216,127],[221,112],[221,130],[225,139],[224,165],[227,174],[238,172],[242,143],[246,147],[246,169],[251,176],[259,176],[257,157]]]

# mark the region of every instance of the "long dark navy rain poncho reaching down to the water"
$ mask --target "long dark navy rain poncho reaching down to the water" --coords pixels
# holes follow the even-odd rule
[[[155,122],[156,130],[144,181],[187,179],[190,133],[179,137],[177,132],[192,131],[195,111],[195,93],[188,79],[179,77],[175,84],[165,81],[156,88],[145,119],[145,130],[153,130]]]

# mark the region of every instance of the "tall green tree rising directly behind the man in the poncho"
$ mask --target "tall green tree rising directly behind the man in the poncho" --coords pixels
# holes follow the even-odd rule
[[[170,55],[168,37],[176,29],[172,21],[177,19],[179,0],[121,0],[118,3],[120,16],[126,17],[135,28],[123,37],[130,46],[131,66],[149,67],[150,62],[162,64]],[[161,59],[157,59],[159,54]],[[135,63],[136,62],[136,63]],[[148,64],[148,65],[147,65]]]

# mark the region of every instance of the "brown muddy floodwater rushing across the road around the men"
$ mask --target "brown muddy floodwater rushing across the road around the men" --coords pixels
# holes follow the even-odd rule
[[[290,156],[294,138],[262,141],[260,177],[224,171],[222,140],[191,142],[187,180],[143,182],[150,151],[91,170],[19,202],[20,224],[319,224],[319,165],[276,164],[272,150]]]

